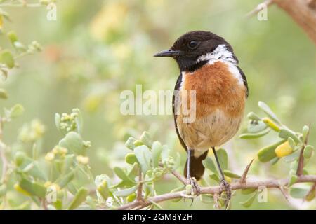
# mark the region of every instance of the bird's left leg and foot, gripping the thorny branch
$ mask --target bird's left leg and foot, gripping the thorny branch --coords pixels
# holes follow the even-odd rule
[[[187,186],[185,187],[185,194],[182,194],[183,197],[197,197],[200,193],[199,185],[195,177],[191,176],[190,167],[191,167],[191,153],[192,149],[187,150]],[[192,201],[193,202],[193,201]]]

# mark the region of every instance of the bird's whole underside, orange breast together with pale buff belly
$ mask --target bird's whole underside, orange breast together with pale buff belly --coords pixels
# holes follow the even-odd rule
[[[190,94],[185,91],[195,90],[196,104],[192,105],[196,116],[186,123],[185,113],[177,113],[176,123],[180,137],[187,148],[194,151],[195,157],[211,147],[225,144],[239,129],[244,116],[246,87],[239,71],[235,70],[237,74],[234,75],[227,64],[215,62],[195,73],[183,73],[181,97],[176,100],[175,109],[182,111],[180,102],[184,105],[191,102]]]

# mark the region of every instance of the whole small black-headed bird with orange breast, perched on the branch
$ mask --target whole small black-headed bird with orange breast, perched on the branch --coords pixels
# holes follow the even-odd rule
[[[154,56],[176,60],[180,76],[175,92],[180,92],[180,99],[189,102],[188,110],[195,109],[195,119],[185,120],[187,113],[181,112],[183,102],[173,94],[176,133],[187,151],[184,170],[187,184],[199,194],[197,181],[204,173],[202,161],[212,148],[220,172],[220,193],[225,191],[229,200],[230,185],[225,181],[215,148],[236,134],[248,97],[246,76],[237,66],[239,61],[232,46],[209,31],[191,31],[180,36],[169,50]],[[194,91],[195,100],[191,94],[183,97],[184,91]]]

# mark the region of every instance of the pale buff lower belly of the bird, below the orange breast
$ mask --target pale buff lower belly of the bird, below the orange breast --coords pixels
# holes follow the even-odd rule
[[[241,111],[242,112],[242,111]],[[208,116],[198,117],[192,123],[183,123],[183,116],[177,116],[178,131],[185,145],[195,151],[195,157],[213,146],[221,146],[232,139],[242,121],[240,116],[227,116],[216,109]]]

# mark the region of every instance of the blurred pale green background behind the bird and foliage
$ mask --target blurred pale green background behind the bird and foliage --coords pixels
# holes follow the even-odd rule
[[[84,139],[93,147],[89,151],[93,174],[112,175],[114,165],[123,164],[127,151],[124,141],[139,137],[148,130],[163,144],[179,151],[185,162],[173,127],[172,116],[122,116],[119,112],[122,90],[173,90],[178,67],[171,59],[152,57],[169,48],[187,31],[206,30],[223,36],[235,49],[239,66],[249,81],[246,112],[258,112],[257,102],[269,104],[282,121],[301,131],[305,124],[312,128],[310,144],[316,144],[316,50],[312,41],[286,13],[277,6],[268,8],[268,20],[244,15],[260,1],[251,0],[126,0],[79,1],[57,3],[57,20],[46,20],[45,8],[4,8],[11,14],[20,40],[33,40],[43,51],[19,60],[5,82],[9,94],[0,106],[20,103],[25,114],[5,127],[4,141],[13,144],[25,122],[39,118],[46,127],[43,152],[58,144],[60,134],[54,125],[56,112],[81,109],[84,117]],[[1,45],[4,38],[0,36]],[[246,119],[243,127],[246,127]],[[242,130],[239,132],[241,133]],[[275,141],[275,135],[245,141],[235,137],[225,146],[232,170],[242,172],[259,148]],[[250,178],[268,179],[287,176],[287,164],[276,166],[256,161]],[[308,167],[316,169],[315,160]],[[182,170],[180,170],[182,172]],[[158,193],[176,186],[176,180],[162,181]],[[243,209],[233,198],[233,209]],[[199,200],[190,203],[164,202],[165,209],[213,209]],[[251,209],[305,208],[291,204],[277,190],[268,190],[267,203],[254,203]],[[315,205],[312,206],[315,209]]]

